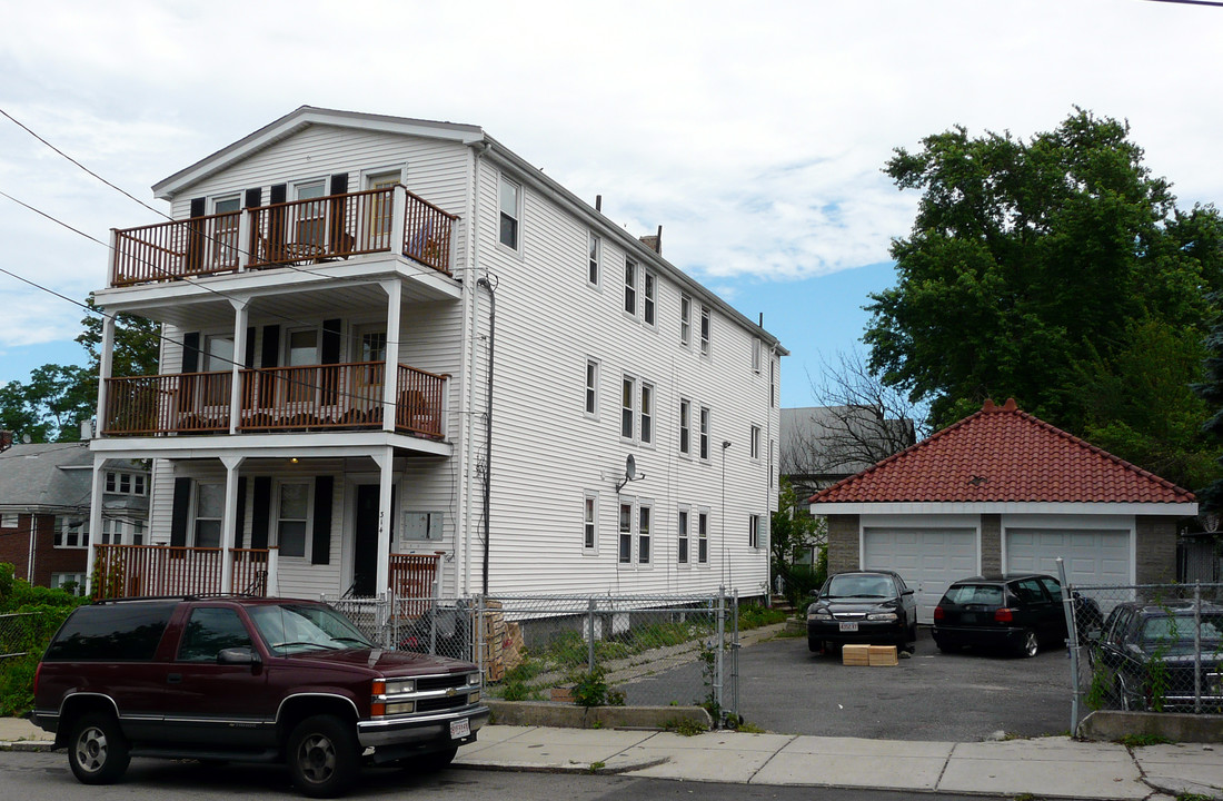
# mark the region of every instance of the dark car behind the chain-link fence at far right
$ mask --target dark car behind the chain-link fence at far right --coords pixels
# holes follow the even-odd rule
[[[1088,655],[1096,676],[1107,682],[1108,706],[1223,711],[1223,607],[1202,602],[1199,609],[1192,600],[1118,604],[1093,640]]]

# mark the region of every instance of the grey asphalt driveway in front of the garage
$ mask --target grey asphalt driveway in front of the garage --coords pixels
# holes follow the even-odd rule
[[[921,629],[916,652],[899,665],[849,668],[840,654],[812,654],[806,636],[786,637],[741,648],[739,674],[740,714],[779,734],[976,742],[999,731],[1042,736],[1070,730],[1064,648],[1031,659],[943,654]],[[700,666],[685,665],[624,690],[629,703],[658,703],[667,685],[701,687]],[[671,695],[676,692],[685,691]]]

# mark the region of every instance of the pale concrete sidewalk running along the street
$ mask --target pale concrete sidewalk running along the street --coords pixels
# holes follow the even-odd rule
[[[0,748],[42,751],[46,733],[0,718]],[[918,742],[713,731],[484,726],[456,766],[594,772],[752,785],[819,785],[1038,797],[1223,799],[1223,746],[1126,748],[1068,737]]]

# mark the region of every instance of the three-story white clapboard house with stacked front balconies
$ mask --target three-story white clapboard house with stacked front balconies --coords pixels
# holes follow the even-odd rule
[[[155,460],[164,548],[105,592],[767,588],[786,351],[660,237],[479,127],[309,106],[154,192],[97,302],[166,372],[105,324],[92,448]]]

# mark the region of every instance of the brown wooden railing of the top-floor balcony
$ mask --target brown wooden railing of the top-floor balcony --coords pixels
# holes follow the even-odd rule
[[[116,229],[111,286],[399,253],[449,275],[459,218],[402,186]]]

